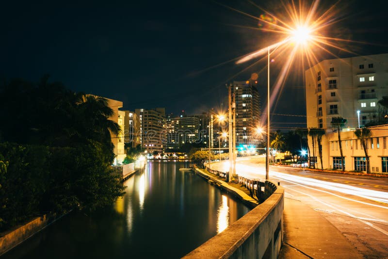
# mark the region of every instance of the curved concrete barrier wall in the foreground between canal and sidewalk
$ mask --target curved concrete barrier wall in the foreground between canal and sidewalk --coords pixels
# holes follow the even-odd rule
[[[266,189],[274,183],[267,181]],[[262,204],[186,255],[198,258],[277,258],[283,243],[284,189],[277,186]]]

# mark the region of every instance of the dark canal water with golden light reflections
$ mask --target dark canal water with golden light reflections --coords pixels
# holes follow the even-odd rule
[[[191,171],[147,162],[111,207],[72,212],[5,258],[180,258],[249,211]]]

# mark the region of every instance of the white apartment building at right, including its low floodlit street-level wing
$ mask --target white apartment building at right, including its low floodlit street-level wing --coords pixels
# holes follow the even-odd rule
[[[333,117],[347,120],[341,134],[346,171],[366,171],[366,155],[354,134],[369,122],[384,121],[378,101],[388,96],[388,53],[324,60],[306,70],[307,128],[325,129],[322,136],[322,164],[318,145],[308,137],[310,158],[315,154],[316,168],[342,169],[338,133]],[[388,125],[369,127],[367,140],[372,173],[387,173]],[[311,159],[313,161],[314,158]]]

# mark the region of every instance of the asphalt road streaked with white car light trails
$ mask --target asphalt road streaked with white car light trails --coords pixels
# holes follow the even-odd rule
[[[228,161],[211,168],[223,171]],[[245,178],[265,179],[265,164],[256,159],[239,160],[236,171]],[[286,202],[299,200],[318,211],[365,258],[388,258],[388,178],[270,166],[270,179],[285,188]]]

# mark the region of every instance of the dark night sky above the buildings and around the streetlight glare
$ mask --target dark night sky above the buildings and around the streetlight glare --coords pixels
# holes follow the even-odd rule
[[[284,16],[281,1],[254,3]],[[322,1],[319,8],[327,10],[333,3]],[[339,21],[323,33],[368,42],[339,43],[356,54],[386,53],[386,5],[379,0],[339,1]],[[248,80],[252,73],[259,74],[259,92],[266,95],[266,61],[236,65],[234,60],[278,38],[257,30],[258,20],[231,9],[265,15],[249,1],[3,1],[0,7],[1,79],[38,81],[49,74],[51,81],[62,81],[74,91],[121,100],[125,109],[165,107],[167,113],[221,107],[225,83]],[[332,51],[339,57],[355,56]],[[323,51],[317,55],[320,60],[335,58]],[[271,64],[273,82],[282,60],[277,56]],[[275,114],[275,128],[305,126],[299,62],[291,66],[272,113],[301,115]]]

